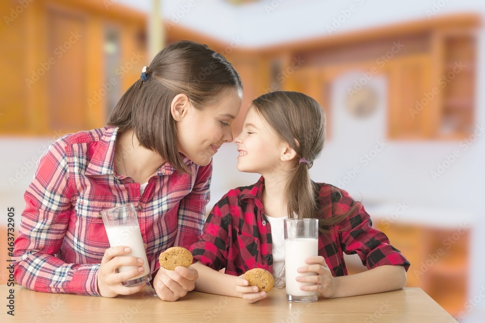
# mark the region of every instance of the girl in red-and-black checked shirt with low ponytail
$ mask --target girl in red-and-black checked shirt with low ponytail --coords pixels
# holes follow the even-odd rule
[[[244,118],[238,170],[261,174],[251,186],[229,191],[212,209],[200,240],[191,247],[199,273],[195,289],[242,297],[266,297],[241,275],[253,268],[272,272],[284,286],[284,218],[318,218],[318,257],[307,258],[301,287],[325,298],[403,288],[409,262],[347,192],[315,183],[308,169],[325,138],[322,107],[298,92],[272,92],[255,99]],[[357,253],[367,272],[348,275],[343,253]],[[225,268],[225,274],[219,272]],[[239,276],[239,277],[238,277]]]

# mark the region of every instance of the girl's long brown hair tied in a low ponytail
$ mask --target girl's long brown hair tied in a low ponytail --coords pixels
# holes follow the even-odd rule
[[[309,168],[323,150],[325,142],[325,113],[316,100],[300,92],[275,91],[256,98],[252,102],[255,111],[273,128],[280,140],[296,152],[295,167],[284,190],[283,200],[288,217],[318,218],[320,232],[327,232],[328,226],[335,225],[355,210],[356,204],[348,212],[338,212],[333,217],[328,207],[320,206],[317,187],[310,179]],[[308,161],[299,162],[301,159]],[[332,197],[340,194],[333,189]],[[345,214],[342,214],[345,213]]]

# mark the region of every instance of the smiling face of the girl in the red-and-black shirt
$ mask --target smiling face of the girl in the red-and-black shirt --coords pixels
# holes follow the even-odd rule
[[[254,107],[249,107],[242,132],[234,138],[234,142],[238,145],[239,171],[265,176],[281,169],[281,157],[286,145]]]

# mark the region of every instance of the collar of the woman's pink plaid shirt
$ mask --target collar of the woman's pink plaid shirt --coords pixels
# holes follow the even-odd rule
[[[114,148],[116,146],[116,137],[118,127],[105,127],[104,132],[99,138],[99,144],[96,145],[95,151],[89,161],[85,175],[109,175],[114,174]],[[188,157],[180,154],[183,163],[187,166],[194,164]],[[172,175],[175,167],[169,162],[165,162],[157,171],[157,175]]]

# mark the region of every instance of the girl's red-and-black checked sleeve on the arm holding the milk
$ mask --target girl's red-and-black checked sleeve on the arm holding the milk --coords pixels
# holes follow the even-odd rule
[[[341,190],[341,193],[341,198],[336,202],[337,208],[350,209],[356,202],[347,192]],[[357,254],[367,268],[401,265],[408,270],[409,261],[390,244],[383,232],[372,227],[371,217],[362,204],[359,203],[356,210],[343,221],[341,228],[343,251],[348,255]]]

